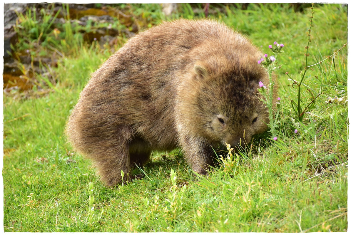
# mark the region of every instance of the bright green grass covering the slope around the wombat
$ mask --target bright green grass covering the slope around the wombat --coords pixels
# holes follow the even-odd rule
[[[134,12],[141,9],[151,24],[165,19],[158,5],[133,6]],[[224,9],[210,18],[246,34],[264,52],[273,41],[284,43],[279,63],[300,79],[309,8],[294,12],[287,4],[250,4],[245,11]],[[346,8],[325,4],[314,11],[311,65],[347,42]],[[203,15],[186,4],[172,17],[179,16]],[[220,160],[208,177],[194,176],[179,149],[154,152],[152,162],[136,170],[144,171],[145,178],[115,188],[101,184],[90,162],[72,152],[63,135],[89,74],[111,54],[99,47],[76,51],[58,62],[58,82],[48,92],[34,90],[22,99],[4,96],[6,232],[347,231],[346,49],[334,62],[329,59],[307,71],[302,100],[310,102],[306,88],[320,95],[302,121],[290,106],[290,100],[297,102],[297,87],[278,70],[283,108],[277,141],[269,133],[257,136],[232,161]],[[326,103],[335,97],[343,100]]]

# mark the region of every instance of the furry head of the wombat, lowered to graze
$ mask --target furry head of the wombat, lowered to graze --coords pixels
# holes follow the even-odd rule
[[[199,81],[195,96],[200,114],[197,127],[203,128],[209,140],[233,147],[246,145],[253,135],[267,129],[268,109],[260,101],[258,88],[260,81],[267,86],[269,78],[255,62],[216,58],[194,65],[193,79]]]

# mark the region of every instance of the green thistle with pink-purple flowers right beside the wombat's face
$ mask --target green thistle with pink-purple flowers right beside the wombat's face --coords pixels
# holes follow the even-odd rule
[[[268,108],[268,112],[269,112],[269,127],[271,130],[271,134],[272,136],[274,136],[273,140],[277,140],[276,137],[276,126],[279,122],[278,120],[278,114],[280,112],[281,106],[280,106],[280,98],[277,98],[277,102],[274,104],[273,103],[273,88],[275,85],[275,81],[273,79],[273,73],[275,70],[277,70],[278,68],[280,68],[280,66],[277,65],[277,58],[278,58],[278,54],[284,52],[282,50],[282,48],[284,47],[284,44],[281,43],[279,44],[278,42],[274,42],[273,45],[269,45],[268,46],[271,49],[271,52],[273,53],[273,55],[268,56],[268,54],[264,54],[264,58],[261,58],[259,61],[257,61],[257,63],[259,63],[260,65],[262,65],[269,76],[269,84],[267,84],[267,86],[263,83],[263,82],[259,82],[259,88],[258,91],[260,94],[262,94],[263,99],[261,99],[261,101],[263,101],[267,108]],[[277,110],[274,111],[274,107],[277,106]],[[275,114],[275,116],[274,116]]]

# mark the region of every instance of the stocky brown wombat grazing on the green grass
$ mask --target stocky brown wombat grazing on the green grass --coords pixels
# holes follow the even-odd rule
[[[257,90],[260,81],[269,83],[261,57],[244,36],[214,20],[152,27],[91,75],[69,117],[68,140],[108,186],[153,150],[176,147],[194,172],[206,174],[212,146],[244,145],[267,129]]]

